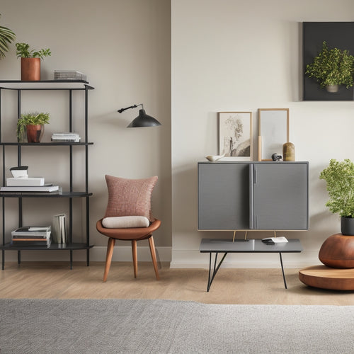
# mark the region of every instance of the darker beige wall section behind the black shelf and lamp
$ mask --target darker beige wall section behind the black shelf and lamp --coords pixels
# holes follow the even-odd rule
[[[154,239],[157,248],[166,253],[168,259],[171,257],[170,9],[170,2],[165,0],[1,0],[0,24],[16,33],[16,42],[52,50],[52,56],[42,61],[42,79],[52,79],[55,69],[76,69],[87,74],[88,81],[95,87],[89,92],[89,139],[94,142],[89,148],[89,189],[93,192],[90,229],[91,242],[96,245],[91,250],[92,260],[105,259],[107,238],[96,231],[96,220],[103,216],[107,202],[105,174],[125,178],[159,176],[152,208],[154,215],[162,220],[162,226]],[[16,59],[15,46],[11,45],[11,51],[0,61],[0,79],[20,77],[20,59]],[[54,95],[52,98],[53,93],[43,93],[41,101],[38,96],[26,93],[22,107],[23,111],[36,109],[51,113],[52,125],[46,126],[47,140],[57,120],[67,118],[67,110],[63,110],[67,108],[67,101],[61,93]],[[135,109],[120,114],[117,110],[134,103],[144,103],[147,114],[154,116],[162,126],[126,129],[139,112]],[[15,139],[16,101],[8,94],[3,98],[2,109],[11,127],[6,133]],[[57,173],[66,169],[67,164],[59,160],[57,152],[39,151],[35,151],[35,156],[23,156],[23,164],[30,166],[30,173],[38,173],[49,181],[56,177],[52,176],[52,170],[57,166],[61,167]],[[52,159],[49,168],[45,166],[47,159]],[[6,167],[16,166],[17,161],[7,164]],[[47,201],[45,205],[50,207]],[[50,205],[53,205],[52,200]],[[33,204],[30,207],[33,213],[25,217],[25,223],[51,221],[55,213],[53,210],[46,215],[45,210],[46,219],[42,220],[42,202],[36,200],[35,208]],[[15,205],[12,213],[6,214],[6,229],[11,231],[11,224],[16,225],[16,222]],[[74,224],[80,232],[81,221],[75,219]],[[139,244],[144,251],[147,242]],[[129,244],[121,242],[120,245],[127,246],[128,259],[131,259]],[[6,260],[13,259],[14,253],[6,252]],[[74,252],[74,260],[84,259],[84,256],[84,252]],[[122,260],[119,253],[114,253],[114,257]],[[33,258],[67,260],[69,255],[23,252],[22,258],[23,261]]]

